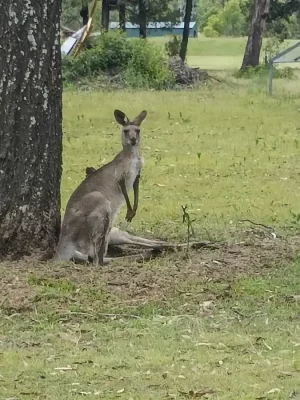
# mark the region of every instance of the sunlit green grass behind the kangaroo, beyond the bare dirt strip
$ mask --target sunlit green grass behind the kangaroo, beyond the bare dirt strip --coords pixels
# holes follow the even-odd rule
[[[185,204],[201,236],[204,229],[226,233],[246,218],[291,224],[300,204],[299,107],[298,98],[230,85],[199,92],[67,93],[63,208],[85,167],[102,165],[120,149],[113,109],[130,117],[147,109],[134,229],[183,237]]]

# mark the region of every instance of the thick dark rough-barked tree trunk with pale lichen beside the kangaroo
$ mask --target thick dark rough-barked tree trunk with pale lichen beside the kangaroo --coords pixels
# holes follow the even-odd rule
[[[51,257],[59,235],[60,13],[59,0],[0,3],[0,259]]]

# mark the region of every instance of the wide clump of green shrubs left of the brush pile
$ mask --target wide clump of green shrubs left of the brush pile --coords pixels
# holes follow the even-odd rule
[[[76,57],[64,57],[63,78],[68,83],[93,79],[116,69],[130,87],[164,89],[174,83],[163,52],[144,39],[127,39],[108,32],[90,41],[90,48]]]

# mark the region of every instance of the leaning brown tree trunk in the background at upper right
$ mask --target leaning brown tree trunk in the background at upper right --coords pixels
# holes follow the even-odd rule
[[[251,27],[241,70],[247,67],[256,67],[259,64],[260,50],[269,10],[270,0],[255,0]]]

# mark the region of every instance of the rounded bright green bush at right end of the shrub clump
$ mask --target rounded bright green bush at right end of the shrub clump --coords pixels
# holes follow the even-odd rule
[[[162,51],[144,39],[131,41],[132,54],[124,77],[133,88],[165,89],[172,86],[174,77]]]

